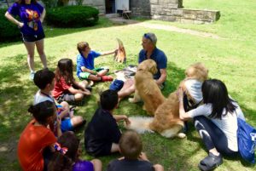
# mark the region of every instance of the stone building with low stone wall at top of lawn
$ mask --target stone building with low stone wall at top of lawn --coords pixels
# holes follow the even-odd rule
[[[84,0],[83,4],[96,7],[100,14],[130,10],[132,16],[183,23],[212,23],[220,17],[216,10],[184,9],[183,0]]]

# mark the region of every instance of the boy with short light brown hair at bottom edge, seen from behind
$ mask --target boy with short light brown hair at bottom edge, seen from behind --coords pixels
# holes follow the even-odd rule
[[[108,164],[107,171],[163,171],[160,164],[152,164],[143,150],[143,142],[134,131],[122,134],[119,140],[120,153],[124,156]]]

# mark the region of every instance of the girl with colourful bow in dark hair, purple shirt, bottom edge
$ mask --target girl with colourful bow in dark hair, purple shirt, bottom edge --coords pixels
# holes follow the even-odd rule
[[[49,161],[48,171],[102,171],[100,160],[80,160],[79,155],[79,139],[73,132],[67,131],[55,143],[55,153]]]

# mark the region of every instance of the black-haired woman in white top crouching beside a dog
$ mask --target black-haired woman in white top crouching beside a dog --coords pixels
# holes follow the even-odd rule
[[[195,128],[209,151],[199,163],[201,170],[211,170],[222,164],[222,155],[237,153],[237,117],[244,119],[241,108],[230,99],[223,82],[217,79],[205,81],[201,87],[203,105],[184,111],[183,91],[178,91],[179,116],[183,121],[193,118]]]

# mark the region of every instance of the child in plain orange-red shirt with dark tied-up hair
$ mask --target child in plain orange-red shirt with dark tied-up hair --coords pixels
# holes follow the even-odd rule
[[[55,151],[55,135],[47,128],[49,123],[55,121],[55,110],[55,104],[51,101],[31,105],[28,109],[34,119],[23,130],[18,144],[18,158],[23,170],[43,171],[46,164],[44,150],[49,147],[51,151]],[[60,121],[57,120],[59,130],[60,125]]]

